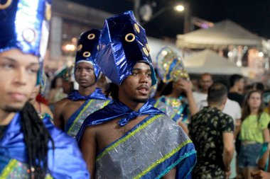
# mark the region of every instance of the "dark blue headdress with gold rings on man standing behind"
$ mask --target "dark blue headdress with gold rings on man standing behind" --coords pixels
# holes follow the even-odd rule
[[[99,77],[99,67],[95,63],[97,55],[97,48],[99,44],[100,30],[92,29],[80,35],[80,40],[77,45],[77,53],[75,57],[75,64],[80,62],[88,62],[93,64],[94,72],[97,81]]]

